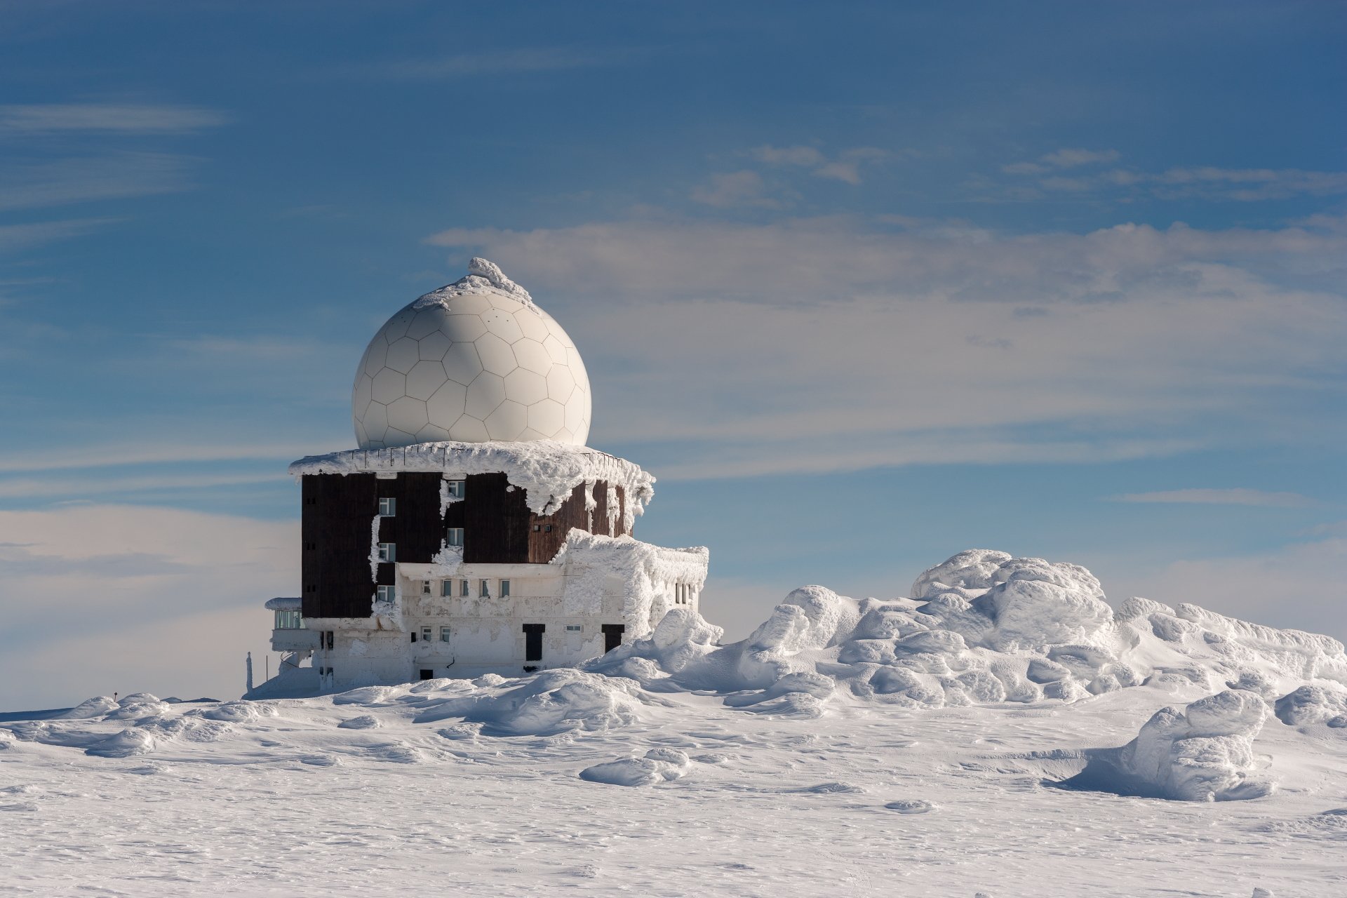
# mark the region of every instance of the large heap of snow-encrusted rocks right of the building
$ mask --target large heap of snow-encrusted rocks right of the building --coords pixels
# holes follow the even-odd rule
[[[1076,564],[970,549],[921,574],[912,594],[857,602],[803,587],[730,645],[718,645],[718,627],[675,609],[651,638],[586,668],[652,691],[709,689],[730,707],[806,716],[835,693],[942,708],[1222,683],[1276,700],[1288,723],[1347,714],[1347,656],[1336,640],[1141,598],[1114,611]]]

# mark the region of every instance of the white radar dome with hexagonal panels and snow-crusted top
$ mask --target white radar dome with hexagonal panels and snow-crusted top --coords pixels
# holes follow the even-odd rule
[[[485,258],[388,319],[360,359],[350,405],[361,448],[583,446],[590,425],[589,374],[575,343]]]

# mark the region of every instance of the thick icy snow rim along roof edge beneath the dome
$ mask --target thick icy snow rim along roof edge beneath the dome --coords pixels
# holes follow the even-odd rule
[[[655,478],[626,459],[587,446],[554,440],[416,443],[384,450],[348,450],[310,455],[291,463],[294,477],[304,474],[368,474],[442,471],[443,474],[505,474],[527,493],[535,514],[551,514],[581,483],[606,481],[626,493],[626,528],[655,497]]]

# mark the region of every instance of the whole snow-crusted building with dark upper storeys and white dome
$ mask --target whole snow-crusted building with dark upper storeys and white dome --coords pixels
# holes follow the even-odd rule
[[[574,665],[696,610],[707,549],[633,539],[655,478],[585,446],[585,364],[494,264],[393,315],[352,407],[358,448],[290,466],[302,592],[251,695]]]

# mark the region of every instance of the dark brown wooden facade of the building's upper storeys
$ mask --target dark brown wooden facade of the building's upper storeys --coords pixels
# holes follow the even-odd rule
[[[379,543],[396,545],[397,561],[428,564],[440,551],[446,528],[463,529],[467,564],[546,564],[556,556],[574,528],[603,536],[626,533],[626,497],[614,493],[618,514],[609,532],[607,485],[594,485],[597,508],[585,508],[585,486],[577,486],[554,514],[533,514],[524,490],[512,489],[504,474],[469,474],[463,498],[440,514],[439,473],[306,474],[302,478],[303,614],[315,618],[369,617],[376,586],[392,586],[393,564],[370,574],[370,528],[379,499],[397,501],[393,516],[379,520]]]

